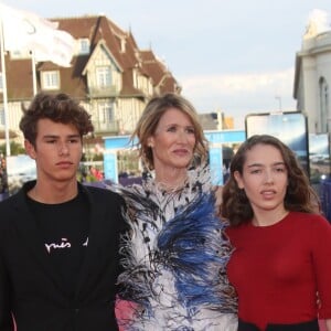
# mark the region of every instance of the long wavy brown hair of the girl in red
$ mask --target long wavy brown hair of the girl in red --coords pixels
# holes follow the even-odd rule
[[[269,145],[277,148],[284,159],[288,172],[288,186],[285,196],[285,209],[303,213],[317,212],[319,197],[310,186],[309,179],[298,162],[296,154],[279,139],[268,135],[256,135],[244,141],[234,154],[229,166],[229,178],[222,192],[220,215],[227,218],[232,225],[250,222],[253,209],[243,189],[239,189],[234,178],[235,171],[243,175],[243,167],[247,151],[256,145]]]

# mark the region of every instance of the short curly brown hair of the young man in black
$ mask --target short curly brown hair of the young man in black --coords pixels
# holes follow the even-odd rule
[[[24,138],[35,146],[38,121],[51,119],[55,122],[71,124],[77,128],[81,137],[93,131],[90,115],[76,100],[68,95],[39,93],[29,108],[23,109],[20,129]]]

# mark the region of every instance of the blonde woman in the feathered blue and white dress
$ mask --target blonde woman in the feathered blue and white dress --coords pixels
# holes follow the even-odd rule
[[[131,227],[124,243],[121,297],[135,302],[125,330],[234,331],[231,254],[216,217],[207,145],[194,107],[167,94],[147,105],[138,138],[142,185],[122,190]]]

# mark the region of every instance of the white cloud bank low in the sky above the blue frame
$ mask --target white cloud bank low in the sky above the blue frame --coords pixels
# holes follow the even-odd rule
[[[180,83],[182,94],[199,111],[222,109],[243,127],[243,118],[249,113],[295,110],[293,77],[291,67],[264,73],[184,76]]]

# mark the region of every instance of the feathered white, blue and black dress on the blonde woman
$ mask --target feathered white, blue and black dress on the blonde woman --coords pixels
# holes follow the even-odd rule
[[[234,331],[236,297],[226,277],[232,248],[215,215],[207,167],[167,192],[153,179],[121,190],[130,234],[122,241],[122,299],[136,302],[125,330]]]

